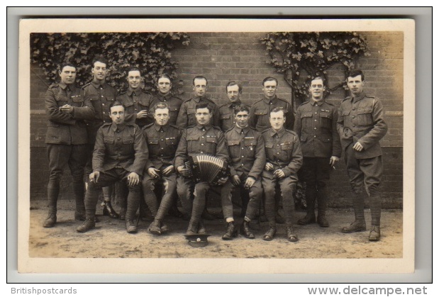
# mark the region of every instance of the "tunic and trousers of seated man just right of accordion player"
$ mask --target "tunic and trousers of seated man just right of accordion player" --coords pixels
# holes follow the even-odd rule
[[[241,194],[249,195],[245,216],[252,220],[257,215],[262,198],[260,177],[265,167],[264,140],[257,130],[250,127],[240,128],[237,125],[226,132],[225,138],[230,156],[230,176],[238,175]],[[248,177],[255,179],[255,184],[250,189],[245,189],[244,184]],[[224,218],[233,218],[233,204],[230,199],[230,191],[233,189],[235,186],[230,180],[221,188]]]

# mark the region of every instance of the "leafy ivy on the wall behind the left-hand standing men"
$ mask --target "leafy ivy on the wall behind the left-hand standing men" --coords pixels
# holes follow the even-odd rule
[[[57,67],[72,62],[82,86],[93,78],[94,57],[104,56],[109,61],[109,84],[119,91],[126,89],[126,71],[136,66],[142,71],[144,89],[154,93],[158,74],[167,73],[173,80],[177,77],[171,50],[188,44],[185,33],[32,33],[30,58],[52,82],[59,80]]]

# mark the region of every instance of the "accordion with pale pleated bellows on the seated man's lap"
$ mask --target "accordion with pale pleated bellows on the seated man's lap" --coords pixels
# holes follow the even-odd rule
[[[226,161],[211,155],[194,155],[184,162],[184,167],[190,170],[189,176],[193,181],[206,181],[209,184],[218,184],[218,181],[229,175]]]

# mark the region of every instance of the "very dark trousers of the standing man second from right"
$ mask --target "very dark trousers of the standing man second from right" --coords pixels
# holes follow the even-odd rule
[[[328,206],[330,164],[329,158],[304,157],[300,169],[301,178],[306,182],[306,205],[309,213],[314,212],[317,198],[318,214],[325,215]]]

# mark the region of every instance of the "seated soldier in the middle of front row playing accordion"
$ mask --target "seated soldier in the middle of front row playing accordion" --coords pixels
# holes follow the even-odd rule
[[[175,167],[179,173],[177,179],[177,192],[184,208],[191,213],[191,220],[187,228],[187,235],[205,233],[201,213],[206,205],[206,192],[210,185],[204,181],[194,184],[189,176],[189,169],[184,167],[184,161],[188,156],[206,154],[216,156],[228,162],[226,141],[221,130],[211,125],[212,108],[209,103],[198,103],[195,106],[197,124],[184,130],[175,154]],[[227,179],[220,180],[220,184],[226,183]],[[191,201],[189,189],[194,186],[194,202]]]

